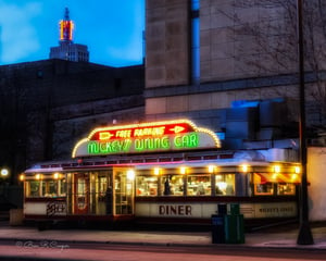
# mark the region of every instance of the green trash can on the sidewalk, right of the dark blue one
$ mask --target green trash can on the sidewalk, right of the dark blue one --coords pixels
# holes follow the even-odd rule
[[[243,244],[244,243],[244,222],[243,215],[225,215],[224,233],[226,244]]]

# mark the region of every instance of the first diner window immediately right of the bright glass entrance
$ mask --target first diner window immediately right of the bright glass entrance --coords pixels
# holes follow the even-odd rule
[[[137,196],[158,196],[158,176],[138,175],[136,177]]]

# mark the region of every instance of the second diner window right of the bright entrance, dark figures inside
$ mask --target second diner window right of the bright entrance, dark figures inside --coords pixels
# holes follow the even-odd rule
[[[184,196],[184,175],[163,175],[161,196]]]

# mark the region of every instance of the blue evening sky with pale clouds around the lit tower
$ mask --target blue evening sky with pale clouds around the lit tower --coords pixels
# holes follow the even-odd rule
[[[145,0],[0,0],[0,65],[49,59],[66,7],[90,62],[141,64]]]

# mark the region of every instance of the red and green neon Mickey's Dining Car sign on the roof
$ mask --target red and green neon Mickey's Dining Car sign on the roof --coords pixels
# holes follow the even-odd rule
[[[96,128],[77,142],[73,158],[206,148],[221,148],[217,136],[178,120]]]

